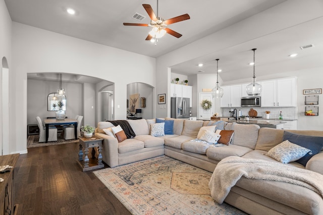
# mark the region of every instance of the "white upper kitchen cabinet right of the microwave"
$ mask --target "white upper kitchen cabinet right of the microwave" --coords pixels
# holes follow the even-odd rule
[[[261,107],[296,107],[296,78],[261,82]]]

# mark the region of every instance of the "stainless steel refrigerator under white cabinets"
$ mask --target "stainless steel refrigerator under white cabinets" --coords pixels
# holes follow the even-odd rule
[[[171,117],[189,118],[190,117],[190,99],[182,97],[171,98]]]

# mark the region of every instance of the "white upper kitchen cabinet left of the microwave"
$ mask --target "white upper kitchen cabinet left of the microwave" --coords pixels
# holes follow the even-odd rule
[[[226,86],[223,88],[223,97],[220,101],[221,107],[241,106],[241,85]]]

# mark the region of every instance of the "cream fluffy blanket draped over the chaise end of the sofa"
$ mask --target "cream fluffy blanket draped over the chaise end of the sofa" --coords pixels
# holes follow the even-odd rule
[[[219,162],[211,176],[208,187],[212,197],[222,204],[242,176],[296,184],[323,196],[323,175],[319,173],[277,162],[231,156]]]

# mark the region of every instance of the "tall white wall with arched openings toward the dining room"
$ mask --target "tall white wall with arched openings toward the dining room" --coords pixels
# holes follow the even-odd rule
[[[115,83],[115,104],[120,105],[115,109],[116,119],[126,119],[127,84],[155,85],[155,58],[16,22],[12,30],[15,64],[11,90],[15,95],[11,121],[15,133],[25,134],[27,127],[27,73],[90,75]],[[129,71],[136,76],[129,76]],[[11,152],[25,151],[26,136],[13,136],[11,144]]]

